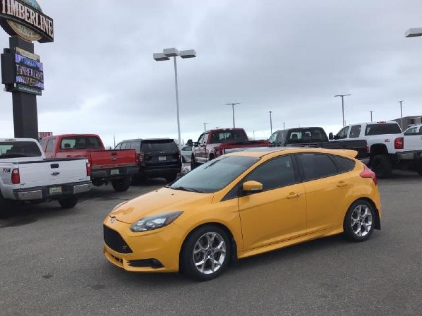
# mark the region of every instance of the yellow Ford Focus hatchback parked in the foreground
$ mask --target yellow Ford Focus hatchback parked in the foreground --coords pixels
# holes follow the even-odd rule
[[[262,148],[223,155],[124,202],[104,220],[104,254],[134,272],[213,279],[237,259],[380,229],[375,174],[352,150]]]

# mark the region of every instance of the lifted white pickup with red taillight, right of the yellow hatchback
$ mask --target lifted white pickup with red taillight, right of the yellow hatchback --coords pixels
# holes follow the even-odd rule
[[[365,139],[371,169],[381,179],[390,177],[394,168],[414,169],[422,175],[422,145],[408,147],[410,139],[395,121],[352,124],[341,129],[333,139]]]

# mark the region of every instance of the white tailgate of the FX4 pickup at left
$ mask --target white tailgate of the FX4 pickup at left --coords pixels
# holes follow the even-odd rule
[[[86,159],[45,159],[19,163],[20,187],[89,181]]]

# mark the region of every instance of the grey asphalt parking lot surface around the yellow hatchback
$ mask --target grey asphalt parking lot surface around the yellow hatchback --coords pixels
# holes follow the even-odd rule
[[[115,193],[95,188],[75,209],[24,207],[0,220],[0,315],[421,315],[422,178],[380,181],[382,230],[241,260],[198,283],[177,273],[127,273],[103,256],[102,221],[121,201],[165,182]]]

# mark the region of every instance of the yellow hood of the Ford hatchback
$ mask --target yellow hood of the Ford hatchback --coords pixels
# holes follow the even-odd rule
[[[163,187],[135,198],[110,213],[120,222],[133,224],[143,217],[169,212],[189,212],[200,203],[211,203],[214,194],[173,190]]]

